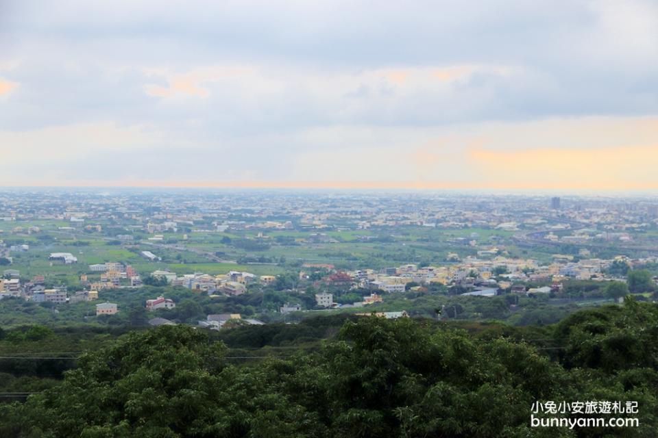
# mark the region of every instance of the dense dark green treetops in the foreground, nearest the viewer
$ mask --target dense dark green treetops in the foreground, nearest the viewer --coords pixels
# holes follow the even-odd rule
[[[241,330],[265,329],[228,333]],[[656,435],[656,305],[629,300],[574,313],[545,333],[524,342],[501,324],[468,333],[428,320],[356,318],[319,350],[244,365],[188,326],[133,331],[82,355],[59,385],[4,404],[0,436]],[[532,428],[535,400],[633,400],[640,426]]]

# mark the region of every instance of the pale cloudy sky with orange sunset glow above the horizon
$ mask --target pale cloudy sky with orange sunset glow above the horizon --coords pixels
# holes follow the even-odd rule
[[[3,186],[658,190],[655,1],[0,0]]]

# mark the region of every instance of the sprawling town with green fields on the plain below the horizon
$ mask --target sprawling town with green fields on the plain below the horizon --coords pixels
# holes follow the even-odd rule
[[[0,201],[0,300],[40,305],[51,322],[137,308],[152,325],[210,329],[322,311],[487,318],[476,298],[504,298],[496,318],[537,303],[562,314],[620,298],[609,283],[629,272],[629,293],[653,300],[658,268],[658,203],[642,198],[53,190]],[[181,300],[196,302],[191,314]]]

